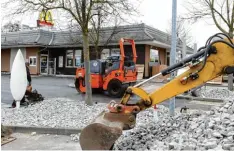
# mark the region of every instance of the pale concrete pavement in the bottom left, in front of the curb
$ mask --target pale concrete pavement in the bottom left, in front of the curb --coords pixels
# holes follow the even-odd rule
[[[70,136],[14,133],[17,139],[5,144],[1,150],[81,150],[79,142],[71,141]]]

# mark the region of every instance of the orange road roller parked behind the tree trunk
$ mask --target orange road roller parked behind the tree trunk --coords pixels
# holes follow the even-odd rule
[[[124,42],[132,45],[132,60],[124,53]],[[106,60],[91,60],[91,87],[93,90],[104,90],[112,97],[123,96],[128,86],[137,80],[136,48],[133,39],[119,40],[120,56],[110,56]],[[78,92],[85,93],[85,68],[76,69],[75,87]]]

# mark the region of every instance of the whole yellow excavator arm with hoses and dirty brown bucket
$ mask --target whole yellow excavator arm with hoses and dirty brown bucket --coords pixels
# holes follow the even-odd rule
[[[213,40],[214,38],[216,40]],[[165,76],[184,67],[189,67],[189,70],[150,94],[139,88],[158,75]],[[225,34],[215,34],[196,54],[168,67],[150,79],[128,87],[120,103],[109,104],[109,111],[102,112],[92,124],[83,129],[80,135],[81,147],[85,150],[109,150],[121,136],[122,130],[134,128],[137,113],[140,111],[198,87],[220,75],[233,73],[233,40]],[[131,98],[135,95],[140,99],[132,103]]]

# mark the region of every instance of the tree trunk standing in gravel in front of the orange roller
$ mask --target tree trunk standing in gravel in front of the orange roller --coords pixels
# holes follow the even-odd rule
[[[91,88],[91,74],[90,74],[90,59],[89,59],[89,37],[88,32],[83,31],[83,52],[84,52],[84,67],[85,67],[85,103],[93,105],[92,88]]]

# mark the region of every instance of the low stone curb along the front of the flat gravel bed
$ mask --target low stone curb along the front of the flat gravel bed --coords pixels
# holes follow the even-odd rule
[[[37,134],[57,134],[57,135],[71,135],[78,134],[82,131],[82,129],[75,128],[52,128],[52,127],[35,127],[35,126],[10,126],[4,125],[13,132],[19,133],[32,133],[36,132]]]

